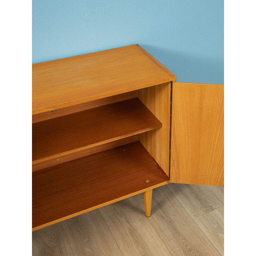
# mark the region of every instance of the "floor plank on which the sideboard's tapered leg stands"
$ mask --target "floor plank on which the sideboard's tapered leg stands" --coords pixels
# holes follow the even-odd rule
[[[134,198],[145,212],[143,196],[140,194]],[[148,220],[172,256],[220,256],[166,186],[154,189],[152,214]]]

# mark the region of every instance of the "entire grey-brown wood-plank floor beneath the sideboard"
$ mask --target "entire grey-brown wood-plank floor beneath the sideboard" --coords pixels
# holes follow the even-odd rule
[[[32,233],[33,256],[223,256],[224,188],[167,184]]]

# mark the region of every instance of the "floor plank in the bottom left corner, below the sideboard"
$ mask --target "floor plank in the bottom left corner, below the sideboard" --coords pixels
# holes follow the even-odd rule
[[[61,223],[33,232],[32,241],[33,256],[74,256]]]

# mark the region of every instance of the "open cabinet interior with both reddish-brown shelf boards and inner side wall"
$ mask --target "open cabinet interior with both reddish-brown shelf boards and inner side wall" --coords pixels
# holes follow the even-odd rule
[[[170,88],[34,115],[34,230],[169,182]]]

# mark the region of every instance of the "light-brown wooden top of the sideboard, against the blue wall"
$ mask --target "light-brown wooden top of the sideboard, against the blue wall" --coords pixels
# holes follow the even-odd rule
[[[32,115],[172,81],[139,45],[32,65]]]

